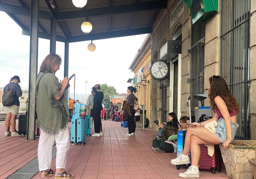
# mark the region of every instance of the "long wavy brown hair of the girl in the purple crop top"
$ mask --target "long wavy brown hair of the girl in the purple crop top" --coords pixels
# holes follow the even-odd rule
[[[214,113],[216,113],[216,104],[214,102],[216,96],[220,96],[224,100],[229,113],[232,113],[234,108],[237,113],[240,112],[239,105],[236,102],[234,95],[231,94],[226,81],[221,76],[213,75],[209,78],[209,83],[210,89],[208,97],[210,99],[211,110]]]

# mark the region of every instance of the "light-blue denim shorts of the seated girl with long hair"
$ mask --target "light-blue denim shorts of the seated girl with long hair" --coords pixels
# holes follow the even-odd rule
[[[217,121],[217,123],[218,123],[218,125],[216,127],[216,135],[220,139],[221,143],[223,143],[227,139],[225,120],[220,118]],[[231,122],[231,127],[232,127],[232,139],[231,139],[231,141],[233,141],[233,139],[235,138],[236,129],[239,127],[239,124],[237,124],[235,122]]]

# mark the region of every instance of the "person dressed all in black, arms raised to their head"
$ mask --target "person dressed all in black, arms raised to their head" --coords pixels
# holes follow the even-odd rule
[[[102,100],[103,100],[103,92],[100,91],[100,84],[97,84],[93,87],[93,91],[95,95],[93,97],[93,119],[94,119],[94,130],[95,133],[92,135],[94,137],[100,137],[103,135],[102,133],[102,125],[100,113],[102,110]]]

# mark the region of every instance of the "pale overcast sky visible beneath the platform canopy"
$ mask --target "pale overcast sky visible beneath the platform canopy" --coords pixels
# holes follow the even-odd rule
[[[10,78],[18,75],[22,89],[28,89],[29,83],[29,41],[30,37],[22,35],[22,29],[5,13],[0,11],[0,87],[4,87]],[[95,84],[106,83],[114,86],[118,93],[126,93],[129,78],[134,73],[129,66],[136,56],[147,34],[128,37],[94,40],[94,52],[87,46],[91,41],[75,42],[69,45],[69,76],[76,74],[75,93],[87,96]],[[38,71],[46,55],[50,52],[50,40],[39,39]],[[59,80],[64,74],[64,43],[56,42],[56,54],[60,55],[62,64],[56,72]],[[96,74],[97,73],[97,74]],[[74,80],[70,81],[70,93],[74,92]]]

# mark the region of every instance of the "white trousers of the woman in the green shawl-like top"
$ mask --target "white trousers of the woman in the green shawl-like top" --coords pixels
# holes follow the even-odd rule
[[[68,126],[65,130],[59,131],[56,136],[49,135],[41,131],[37,156],[39,163],[39,171],[50,169],[52,162],[52,146],[56,142],[56,169],[65,169],[67,161],[67,153],[70,145],[70,136]]]

